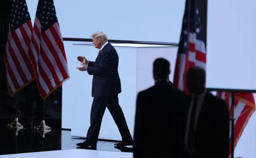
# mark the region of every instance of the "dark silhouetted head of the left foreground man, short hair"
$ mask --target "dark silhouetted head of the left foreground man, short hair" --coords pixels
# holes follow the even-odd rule
[[[167,80],[170,74],[170,62],[164,58],[157,58],[153,64],[154,80]]]

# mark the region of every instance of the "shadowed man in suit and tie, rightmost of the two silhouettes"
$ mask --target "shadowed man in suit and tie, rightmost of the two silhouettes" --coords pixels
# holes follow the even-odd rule
[[[186,74],[188,97],[184,113],[184,157],[228,158],[229,112],[226,102],[206,91],[205,71]]]

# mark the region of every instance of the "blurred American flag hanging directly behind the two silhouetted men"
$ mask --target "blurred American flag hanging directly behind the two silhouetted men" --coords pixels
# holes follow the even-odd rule
[[[196,0],[186,0],[178,56],[175,66],[174,86],[187,92],[186,72],[198,66],[206,69],[206,49]]]

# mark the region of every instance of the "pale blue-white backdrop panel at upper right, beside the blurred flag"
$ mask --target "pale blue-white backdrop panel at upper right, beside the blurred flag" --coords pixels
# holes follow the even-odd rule
[[[208,0],[207,87],[256,90],[255,8],[255,0]]]

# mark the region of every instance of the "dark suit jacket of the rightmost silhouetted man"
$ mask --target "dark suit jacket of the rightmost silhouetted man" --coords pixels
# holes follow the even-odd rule
[[[188,97],[187,107],[184,110],[182,138],[185,136],[190,102],[191,96]],[[228,158],[229,124],[226,102],[206,92],[196,126],[196,158]],[[182,142],[185,142],[184,139]]]

